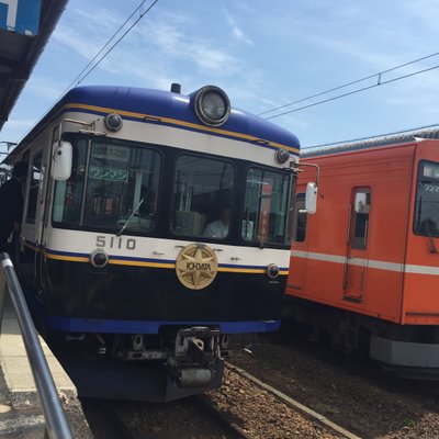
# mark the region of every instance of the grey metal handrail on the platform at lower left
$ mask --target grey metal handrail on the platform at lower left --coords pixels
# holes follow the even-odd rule
[[[50,439],[72,439],[61,403],[56,392],[55,382],[47,365],[43,348],[40,344],[27,304],[24,300],[15,269],[8,254],[0,255],[0,331],[3,315],[5,291],[9,291],[11,302],[15,308],[20,330],[31,363],[32,374],[43,405],[46,420],[45,437]],[[8,285],[8,289],[7,289]]]

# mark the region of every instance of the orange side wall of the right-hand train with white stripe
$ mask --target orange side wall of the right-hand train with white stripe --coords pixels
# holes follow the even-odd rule
[[[304,160],[322,169],[320,196],[305,239],[293,241],[288,295],[401,320],[414,150],[410,144]],[[299,193],[308,179],[301,175]],[[356,212],[361,196],[367,209]]]

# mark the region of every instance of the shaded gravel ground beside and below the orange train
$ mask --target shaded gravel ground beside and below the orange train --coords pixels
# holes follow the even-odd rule
[[[438,383],[386,376],[293,335],[247,338],[232,353],[232,363],[364,439],[439,439]]]

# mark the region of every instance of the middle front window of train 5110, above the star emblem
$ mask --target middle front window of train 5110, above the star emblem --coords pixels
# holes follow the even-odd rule
[[[176,161],[170,229],[176,235],[224,239],[229,234],[234,166],[181,155]]]

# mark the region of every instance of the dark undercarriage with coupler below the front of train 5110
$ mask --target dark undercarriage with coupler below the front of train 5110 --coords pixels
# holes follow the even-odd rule
[[[168,402],[221,386],[228,337],[215,327],[158,335],[45,330],[80,397]]]

